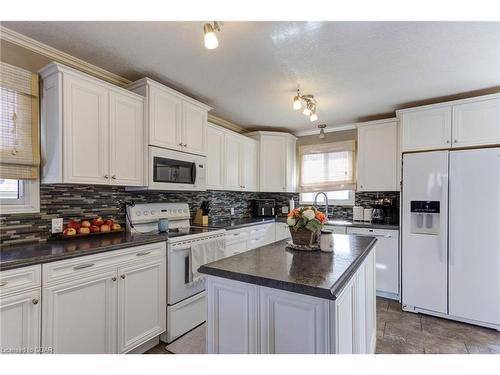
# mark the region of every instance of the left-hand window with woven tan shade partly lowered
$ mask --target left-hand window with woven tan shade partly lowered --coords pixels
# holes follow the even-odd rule
[[[38,212],[38,75],[0,62],[0,211]]]

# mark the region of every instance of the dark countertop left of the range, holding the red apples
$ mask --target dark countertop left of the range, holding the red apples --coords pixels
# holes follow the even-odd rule
[[[54,262],[56,260],[163,242],[168,234],[121,232],[44,243],[4,246],[0,249],[0,270]]]

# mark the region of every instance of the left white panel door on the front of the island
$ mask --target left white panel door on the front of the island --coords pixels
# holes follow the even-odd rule
[[[257,286],[207,278],[207,353],[257,354]]]

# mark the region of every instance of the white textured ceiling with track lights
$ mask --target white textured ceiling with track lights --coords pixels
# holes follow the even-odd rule
[[[135,80],[148,76],[244,127],[310,129],[297,85],[329,126],[406,103],[500,86],[498,22],[2,22]]]

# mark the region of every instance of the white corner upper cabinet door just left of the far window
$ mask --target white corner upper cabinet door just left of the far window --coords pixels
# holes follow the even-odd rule
[[[286,139],[275,135],[260,138],[260,191],[286,191]]]

